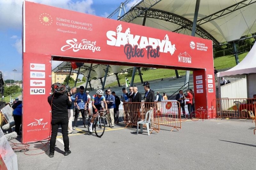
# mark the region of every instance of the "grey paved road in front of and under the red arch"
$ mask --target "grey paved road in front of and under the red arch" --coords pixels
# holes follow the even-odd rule
[[[232,169],[256,167],[255,123],[234,120],[186,121],[182,129],[136,135],[123,124],[107,128],[102,138],[88,135],[81,125],[69,136],[71,154],[64,156],[61,133],[54,158],[49,144],[30,144],[27,152],[17,152],[19,170],[131,170],[131,169]],[[21,145],[24,147],[24,145]],[[33,150],[36,149],[36,150]],[[46,152],[45,152],[46,151]],[[43,153],[43,154],[40,154]],[[28,155],[27,155],[28,154]]]

